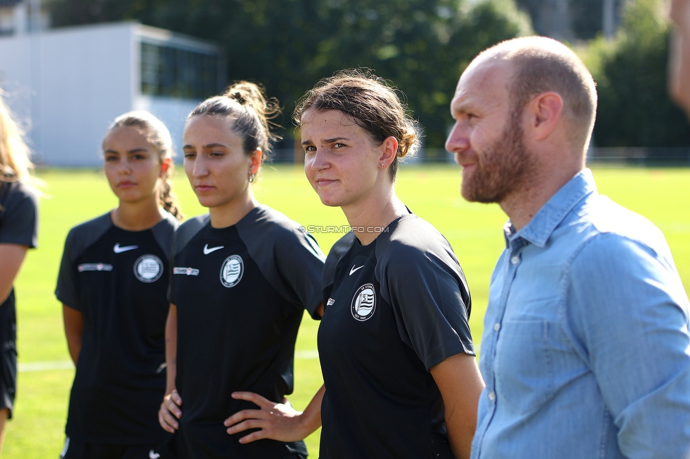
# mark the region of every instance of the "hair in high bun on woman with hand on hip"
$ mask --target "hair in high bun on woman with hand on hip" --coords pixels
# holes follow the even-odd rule
[[[278,100],[267,99],[261,86],[248,81],[233,83],[221,95],[204,100],[192,110],[187,119],[198,115],[218,115],[235,120],[233,131],[242,138],[247,155],[262,150],[262,160],[271,153],[271,142],[279,139],[271,133],[269,120],[280,114]]]

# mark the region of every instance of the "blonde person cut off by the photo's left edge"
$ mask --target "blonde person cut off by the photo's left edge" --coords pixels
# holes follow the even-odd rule
[[[13,283],[26,251],[37,246],[37,179],[22,131],[0,97],[0,450],[17,383]]]

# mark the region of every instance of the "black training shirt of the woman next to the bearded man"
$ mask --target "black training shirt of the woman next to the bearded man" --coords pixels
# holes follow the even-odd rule
[[[428,370],[474,347],[469,290],[448,241],[412,214],[367,246],[346,234],[323,287],[321,458],[452,458]]]

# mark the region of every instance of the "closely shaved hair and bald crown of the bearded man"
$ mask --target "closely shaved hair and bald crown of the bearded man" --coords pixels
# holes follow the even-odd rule
[[[563,117],[571,125],[573,148],[587,148],[597,112],[597,89],[583,61],[561,42],[546,37],[507,40],[481,52],[468,70],[486,61],[511,64],[509,83],[513,110],[521,112],[535,95],[554,92],[563,98]]]

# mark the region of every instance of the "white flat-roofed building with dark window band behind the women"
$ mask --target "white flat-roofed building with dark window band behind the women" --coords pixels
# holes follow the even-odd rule
[[[107,126],[138,109],[179,149],[187,114],[226,84],[216,45],[136,22],[15,30],[0,36],[0,88],[45,165],[100,164]]]

